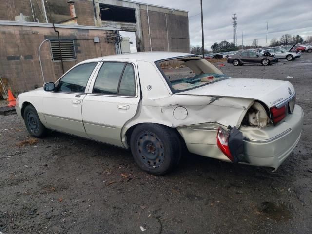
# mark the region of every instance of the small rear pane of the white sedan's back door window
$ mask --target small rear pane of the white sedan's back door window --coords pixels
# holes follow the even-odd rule
[[[129,96],[136,95],[135,71],[133,66],[129,63],[123,72],[118,94]]]

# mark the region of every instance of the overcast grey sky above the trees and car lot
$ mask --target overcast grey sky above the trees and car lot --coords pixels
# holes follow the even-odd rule
[[[200,0],[138,0],[189,11],[190,43],[201,45]],[[215,42],[233,42],[232,14],[237,14],[237,41],[251,45],[253,39],[265,46],[283,34],[312,35],[312,0],[203,0],[205,47]],[[124,35],[128,36],[128,35]],[[133,35],[130,35],[133,38]],[[134,40],[135,42],[135,40]],[[135,45],[135,43],[133,44]]]

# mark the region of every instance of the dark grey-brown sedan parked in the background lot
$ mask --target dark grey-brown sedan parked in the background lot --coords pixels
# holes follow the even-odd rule
[[[260,63],[263,66],[267,66],[276,62],[278,62],[278,59],[274,58],[272,55],[262,55],[256,51],[241,51],[235,55],[230,55],[228,58],[228,63],[233,63],[234,66],[243,65],[245,63]]]

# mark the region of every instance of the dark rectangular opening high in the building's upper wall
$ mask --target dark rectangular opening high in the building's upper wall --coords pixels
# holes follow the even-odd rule
[[[108,4],[99,4],[99,8],[104,21],[136,23],[135,9]]]

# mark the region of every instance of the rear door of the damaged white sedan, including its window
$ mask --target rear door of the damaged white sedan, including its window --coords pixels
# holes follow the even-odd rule
[[[91,139],[123,147],[121,130],[140,99],[135,62],[104,62],[83,99],[84,127]]]

